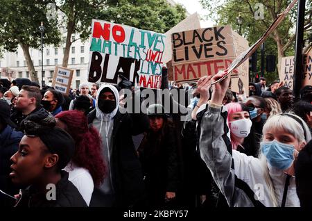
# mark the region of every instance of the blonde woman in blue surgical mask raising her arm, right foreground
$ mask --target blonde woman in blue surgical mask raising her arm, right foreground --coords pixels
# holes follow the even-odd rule
[[[200,79],[199,92],[205,94],[211,81],[223,74]],[[205,110],[199,110],[205,111],[200,121],[200,156],[229,206],[300,206],[294,164],[311,140],[308,126],[297,115],[273,115],[263,126],[259,158],[232,149],[225,124],[227,110],[222,106],[229,79],[214,85],[211,100]]]

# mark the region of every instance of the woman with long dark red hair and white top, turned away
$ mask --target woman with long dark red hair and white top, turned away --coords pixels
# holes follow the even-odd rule
[[[69,180],[89,206],[94,186],[99,186],[105,176],[100,136],[94,126],[88,127],[82,111],[63,111],[55,116],[55,120],[56,125],[76,141],[75,153],[64,170],[69,172]]]

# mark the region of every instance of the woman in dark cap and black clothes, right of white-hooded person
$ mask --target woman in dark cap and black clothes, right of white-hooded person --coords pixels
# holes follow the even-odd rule
[[[156,109],[158,111],[156,111]],[[148,203],[162,206],[175,199],[179,180],[177,138],[173,122],[164,114],[161,104],[148,107],[150,130],[139,147]]]

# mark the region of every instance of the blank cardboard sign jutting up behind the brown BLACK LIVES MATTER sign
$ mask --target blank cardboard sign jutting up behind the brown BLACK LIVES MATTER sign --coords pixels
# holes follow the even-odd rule
[[[164,51],[163,62],[168,63],[168,61],[170,61],[172,58],[171,56],[172,55],[172,50],[171,50],[171,34],[172,33],[180,32],[180,31],[188,31],[188,30],[193,30],[193,29],[198,29],[198,28],[200,28],[200,19],[198,17],[198,13],[193,13],[192,15],[184,19],[182,22],[179,22],[177,25],[175,25],[173,28],[167,31],[165,33],[166,50]]]

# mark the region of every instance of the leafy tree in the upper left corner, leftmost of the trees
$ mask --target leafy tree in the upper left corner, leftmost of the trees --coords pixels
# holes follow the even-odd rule
[[[0,17],[0,45],[8,51],[16,51],[18,45],[23,49],[31,81],[39,83],[29,48],[40,47],[39,26],[44,22],[44,43],[60,42],[60,34],[55,20],[46,19],[45,3],[32,0],[0,0],[1,10],[6,12]],[[43,62],[43,60],[42,60]]]

